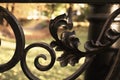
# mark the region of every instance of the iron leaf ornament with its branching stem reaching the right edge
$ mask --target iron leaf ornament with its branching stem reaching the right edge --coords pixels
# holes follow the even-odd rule
[[[65,80],[76,79],[85,69],[87,69],[87,67],[89,67],[89,64],[92,62],[92,59],[96,54],[104,53],[104,51],[106,51],[114,42],[116,42],[120,38],[120,32],[117,32],[110,28],[113,20],[119,14],[120,8],[114,11],[109,16],[106,23],[103,25],[102,32],[96,42],[93,42],[92,40],[86,42],[86,52],[78,50],[79,39],[75,37],[74,31],[71,32],[66,30],[61,34],[61,39],[58,38],[57,30],[60,24],[62,25],[62,23],[60,22],[64,22],[66,25],[66,29],[69,29],[69,26],[67,27],[67,21],[64,20],[64,18],[66,18],[65,14],[56,17],[54,20],[51,20],[49,29],[51,35],[55,39],[55,41],[51,42],[51,46],[56,46],[56,51],[63,51],[61,57],[58,58],[61,66],[67,66],[68,63],[74,66],[75,63],[78,63],[81,57],[86,57],[87,60],[87,62],[83,63],[83,65],[74,74],[67,77]],[[115,61],[112,68],[115,68],[116,63],[117,62]],[[108,76],[111,76],[111,74],[109,74]]]

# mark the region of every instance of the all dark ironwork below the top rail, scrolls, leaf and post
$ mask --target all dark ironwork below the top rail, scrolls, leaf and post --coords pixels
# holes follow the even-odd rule
[[[109,13],[109,7],[110,5],[94,5],[93,15],[89,17],[91,25],[89,29],[89,40],[85,44],[86,52],[78,49],[79,39],[75,36],[75,31],[72,30],[72,8],[69,8],[67,14],[59,15],[50,21],[49,30],[51,36],[54,38],[54,41],[52,41],[50,45],[40,42],[30,44],[25,48],[24,33],[21,26],[9,11],[0,7],[0,16],[5,18],[11,25],[16,38],[14,56],[8,63],[0,65],[0,72],[11,69],[20,61],[25,75],[30,80],[39,80],[28,68],[26,55],[31,48],[45,48],[50,53],[51,62],[46,66],[41,65],[38,59],[43,58],[46,60],[46,56],[40,54],[34,59],[34,65],[40,71],[47,71],[54,66],[56,55],[52,47],[55,47],[56,51],[63,51],[63,54],[57,58],[62,67],[67,66],[67,64],[75,66],[82,57],[86,58],[83,65],[72,75],[65,78],[65,80],[75,80],[85,70],[87,70],[86,80],[113,80],[115,74],[118,75],[117,69],[120,65],[120,49],[114,49],[111,46],[120,38],[120,32],[111,29],[110,25],[114,21],[114,18],[120,14],[120,8],[108,16],[106,13]],[[58,35],[58,28],[61,26],[64,31]],[[107,65],[107,67],[103,66],[104,64]],[[105,68],[105,70],[102,68],[102,70],[105,71],[103,75],[101,75],[100,72],[98,72],[100,75],[95,74],[95,71],[99,71],[98,67],[101,68],[102,66]]]

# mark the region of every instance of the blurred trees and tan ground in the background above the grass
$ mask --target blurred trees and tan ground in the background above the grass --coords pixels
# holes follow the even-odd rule
[[[24,29],[27,39],[40,39],[44,38],[45,35],[48,35],[49,33],[47,27],[50,19],[66,13],[70,5],[72,5],[73,8],[74,26],[88,26],[86,17],[89,14],[89,7],[87,4],[1,3],[0,5],[8,9],[18,19]],[[31,30],[36,30],[34,36],[32,35]],[[43,32],[39,35],[37,31],[40,32],[40,30],[45,30],[46,33]]]

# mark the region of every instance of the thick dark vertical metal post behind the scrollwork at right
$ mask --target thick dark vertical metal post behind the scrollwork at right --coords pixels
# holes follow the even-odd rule
[[[88,40],[96,41],[102,26],[110,13],[110,4],[90,4],[91,14],[88,16],[90,22]],[[109,50],[112,53],[112,50]],[[107,52],[108,53],[108,52]],[[94,58],[90,67],[85,72],[85,80],[105,80],[105,76],[109,70],[106,64],[109,59],[108,54],[98,54]]]

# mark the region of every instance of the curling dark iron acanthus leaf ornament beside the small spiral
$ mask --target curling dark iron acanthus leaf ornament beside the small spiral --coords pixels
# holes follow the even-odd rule
[[[78,63],[80,56],[83,57],[84,54],[78,50],[79,39],[75,36],[75,31],[67,31],[71,28],[68,26],[69,22],[67,23],[67,20],[64,19],[66,17],[67,16],[63,14],[50,21],[50,33],[55,39],[55,41],[52,41],[50,45],[52,47],[56,46],[57,51],[63,51],[61,57],[58,58],[61,66],[67,66],[68,63],[74,66]],[[57,31],[61,25],[64,25],[63,28],[65,28],[66,31],[61,34],[59,39]]]

